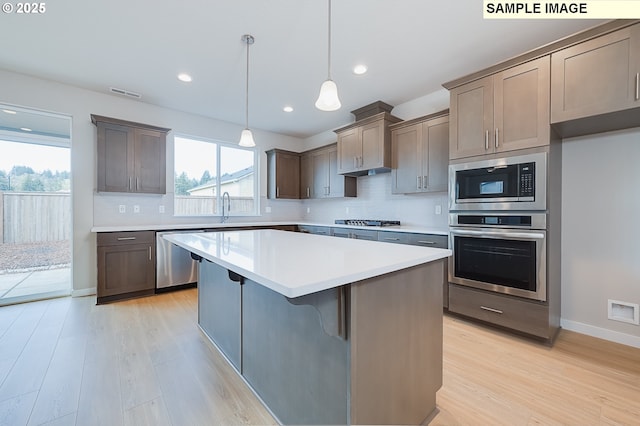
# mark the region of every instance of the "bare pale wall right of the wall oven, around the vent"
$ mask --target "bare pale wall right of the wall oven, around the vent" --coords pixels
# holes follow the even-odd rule
[[[562,327],[640,347],[607,319],[607,299],[640,304],[640,129],[562,143]]]

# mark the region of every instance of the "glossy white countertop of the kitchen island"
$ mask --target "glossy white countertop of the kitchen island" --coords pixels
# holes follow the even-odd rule
[[[429,263],[451,250],[265,230],[164,238],[287,297]]]

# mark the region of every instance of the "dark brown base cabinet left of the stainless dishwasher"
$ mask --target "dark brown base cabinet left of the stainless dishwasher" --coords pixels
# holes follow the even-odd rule
[[[155,232],[98,234],[98,303],[153,294]]]

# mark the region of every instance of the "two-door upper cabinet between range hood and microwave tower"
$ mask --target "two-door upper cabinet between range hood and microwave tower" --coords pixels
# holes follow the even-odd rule
[[[448,110],[391,126],[391,192],[447,190]]]

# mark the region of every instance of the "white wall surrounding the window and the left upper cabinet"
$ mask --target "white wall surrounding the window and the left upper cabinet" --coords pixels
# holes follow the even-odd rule
[[[166,196],[123,196],[96,194],[96,129],[90,114],[122,118],[130,121],[171,128],[182,134],[223,141],[235,141],[243,126],[207,119],[136,100],[92,92],[74,86],[33,78],[0,70],[0,102],[69,115],[72,119],[71,172],[73,196],[73,289],[74,295],[92,294],[96,287],[96,238],[91,228],[96,225],[137,223],[174,223],[170,212],[159,215],[158,205],[172,205],[172,194]],[[275,133],[254,130],[260,152],[261,199],[266,203],[266,156],[273,147],[300,150],[301,140]],[[173,153],[173,138],[168,140],[167,153]],[[167,156],[167,173],[173,176],[173,157]],[[172,188],[173,182],[167,186]],[[141,214],[115,216],[119,204],[139,204]],[[295,220],[298,208],[276,206],[264,220]],[[291,207],[291,206],[288,206]],[[132,210],[132,209],[130,209]],[[263,205],[264,210],[264,205]],[[95,214],[94,214],[95,213]],[[117,218],[117,219],[114,219]],[[255,220],[255,218],[254,218]],[[202,219],[197,220],[202,222]]]

